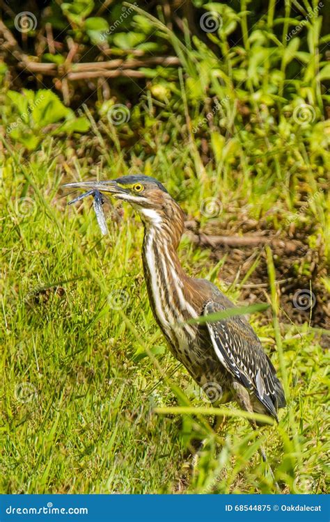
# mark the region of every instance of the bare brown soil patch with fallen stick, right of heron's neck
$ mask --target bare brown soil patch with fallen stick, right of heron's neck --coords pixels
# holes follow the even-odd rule
[[[317,238],[315,248],[308,246],[313,230],[305,228],[303,232],[291,223],[286,230],[276,232],[269,228],[269,223],[246,219],[235,221],[234,227],[230,223],[209,221],[203,231],[195,221],[188,221],[186,226],[194,243],[211,248],[214,260],[226,255],[219,278],[227,285],[239,285],[256,262],[242,285],[243,299],[249,304],[265,301],[265,292],[270,292],[265,255],[265,244],[270,244],[278,281],[281,322],[310,322],[315,328],[330,330],[329,297],[321,283],[327,276],[327,260],[320,238]],[[329,345],[330,337],[322,337],[322,342]]]

